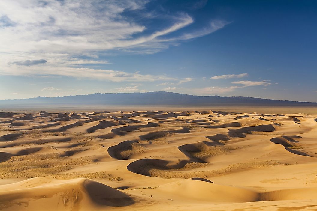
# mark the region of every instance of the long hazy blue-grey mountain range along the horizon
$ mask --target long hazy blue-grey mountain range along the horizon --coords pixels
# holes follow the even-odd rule
[[[243,96],[196,96],[174,92],[156,91],[146,93],[95,93],[63,97],[36,97],[28,99],[0,100],[0,108],[23,108],[45,105],[261,105],[261,106],[317,106],[317,102],[270,100]]]

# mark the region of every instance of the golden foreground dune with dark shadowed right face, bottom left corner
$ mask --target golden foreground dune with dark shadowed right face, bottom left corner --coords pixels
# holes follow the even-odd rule
[[[98,210],[134,203],[128,194],[86,178],[37,177],[1,188],[0,205],[7,210]]]

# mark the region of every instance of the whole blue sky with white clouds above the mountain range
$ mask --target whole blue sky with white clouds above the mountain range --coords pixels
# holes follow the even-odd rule
[[[0,99],[171,91],[317,102],[317,1],[1,0]]]

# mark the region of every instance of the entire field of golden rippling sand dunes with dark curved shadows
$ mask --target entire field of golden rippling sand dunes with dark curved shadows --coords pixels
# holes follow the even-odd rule
[[[0,210],[317,210],[317,115],[0,113]]]

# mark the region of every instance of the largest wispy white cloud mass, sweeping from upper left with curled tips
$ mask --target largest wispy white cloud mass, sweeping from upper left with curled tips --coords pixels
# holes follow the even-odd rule
[[[111,81],[143,81],[168,77],[124,71],[75,68],[91,64],[109,64],[99,54],[109,50],[156,53],[182,40],[210,34],[227,22],[214,20],[203,29],[181,34],[180,29],[194,22],[186,13],[156,14],[146,12],[146,22],[162,21],[157,31],[150,31],[127,11],[143,12],[147,0],[80,1],[16,0],[0,1],[0,74],[62,75],[100,78]],[[168,18],[167,18],[168,16]],[[165,17],[165,18],[162,18]],[[164,23],[165,21],[165,23]],[[179,32],[175,35],[174,32]],[[83,59],[83,56],[93,59]],[[43,70],[43,64],[45,69]],[[32,65],[33,68],[30,68]],[[123,74],[126,77],[113,75]],[[129,75],[130,76],[127,76]],[[185,81],[184,81],[185,82]]]

